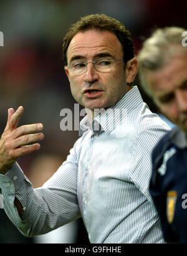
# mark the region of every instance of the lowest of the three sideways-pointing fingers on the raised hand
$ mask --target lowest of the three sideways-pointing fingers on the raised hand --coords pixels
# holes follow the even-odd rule
[[[21,147],[17,147],[17,149],[12,150],[11,157],[17,159],[18,157],[21,157],[21,155],[30,154],[36,150],[39,150],[40,148],[41,145],[39,143],[32,145],[22,145]]]

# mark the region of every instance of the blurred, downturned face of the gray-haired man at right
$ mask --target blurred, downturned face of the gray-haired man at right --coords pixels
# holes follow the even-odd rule
[[[170,59],[155,72],[148,72],[146,82],[161,112],[187,134],[187,54]]]

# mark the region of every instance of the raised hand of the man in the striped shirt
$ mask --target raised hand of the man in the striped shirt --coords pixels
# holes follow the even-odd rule
[[[30,154],[41,147],[39,143],[28,144],[44,139],[44,134],[41,132],[35,133],[43,129],[42,124],[29,124],[17,127],[23,112],[24,108],[22,106],[16,112],[14,109],[8,109],[7,124],[0,140],[1,174],[6,174],[18,157]]]

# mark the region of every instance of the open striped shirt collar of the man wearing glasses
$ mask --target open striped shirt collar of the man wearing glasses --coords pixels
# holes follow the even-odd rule
[[[125,117],[130,114],[143,100],[137,86],[128,91],[120,101],[115,105],[101,112],[92,123],[89,123],[88,117],[85,116],[80,122],[79,135],[82,135],[85,130],[92,130],[94,133],[104,130],[107,134],[115,129],[118,124],[125,121]]]

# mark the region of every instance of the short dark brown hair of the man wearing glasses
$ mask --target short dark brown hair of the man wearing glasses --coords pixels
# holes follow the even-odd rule
[[[125,63],[135,56],[134,44],[130,32],[122,22],[105,14],[91,14],[81,17],[79,21],[70,26],[69,31],[65,34],[63,39],[63,59],[65,65],[67,65],[67,48],[69,47],[70,41],[78,32],[89,29],[113,32],[122,44],[123,61]]]

